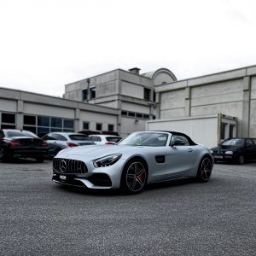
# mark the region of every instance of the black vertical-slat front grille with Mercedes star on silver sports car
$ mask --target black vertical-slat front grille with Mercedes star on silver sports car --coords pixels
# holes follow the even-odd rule
[[[79,174],[88,172],[87,166],[83,161],[65,158],[54,158],[53,168],[55,172],[64,174]]]

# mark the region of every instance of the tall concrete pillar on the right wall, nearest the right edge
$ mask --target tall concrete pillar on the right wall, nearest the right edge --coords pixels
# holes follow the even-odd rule
[[[243,78],[241,137],[249,137],[251,78]]]

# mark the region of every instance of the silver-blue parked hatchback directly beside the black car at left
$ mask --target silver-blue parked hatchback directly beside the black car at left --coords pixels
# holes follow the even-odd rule
[[[49,156],[54,157],[61,149],[94,145],[90,137],[74,132],[50,132],[42,139],[49,144]]]

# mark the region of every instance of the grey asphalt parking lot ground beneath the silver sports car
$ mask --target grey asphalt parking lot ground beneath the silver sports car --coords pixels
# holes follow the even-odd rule
[[[51,164],[0,163],[1,255],[255,255],[255,162],[139,195],[63,187]]]

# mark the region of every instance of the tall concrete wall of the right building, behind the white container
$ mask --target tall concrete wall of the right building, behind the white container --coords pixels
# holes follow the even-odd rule
[[[157,119],[224,113],[238,118],[238,136],[256,137],[256,67],[156,86]]]

